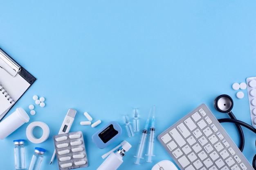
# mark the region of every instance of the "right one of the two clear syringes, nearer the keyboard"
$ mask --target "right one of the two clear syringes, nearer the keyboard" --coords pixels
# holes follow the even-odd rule
[[[154,105],[153,118],[152,118],[150,132],[149,132],[148,154],[145,154],[148,156],[147,162],[152,162],[151,157],[155,156],[153,155],[154,139],[155,139],[155,105]]]

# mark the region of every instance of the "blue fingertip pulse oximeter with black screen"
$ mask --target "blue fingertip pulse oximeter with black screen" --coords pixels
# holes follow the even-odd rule
[[[111,121],[92,135],[92,142],[94,142],[98,148],[103,149],[121,134],[121,126],[117,122]]]

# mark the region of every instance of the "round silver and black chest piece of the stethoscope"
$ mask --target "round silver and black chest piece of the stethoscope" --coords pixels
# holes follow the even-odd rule
[[[232,98],[227,94],[216,97],[213,104],[215,109],[222,113],[229,113],[234,105]]]

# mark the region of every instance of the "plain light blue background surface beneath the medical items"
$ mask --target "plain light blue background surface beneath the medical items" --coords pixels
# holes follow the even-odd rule
[[[71,131],[83,131],[88,170],[103,162],[101,155],[121,141],[132,148],[122,170],[149,170],[163,159],[172,160],[155,139],[153,163],[147,157],[136,165],[133,155],[141,133],[129,138],[124,115],[130,121],[139,109],[140,128],[155,105],[156,135],[205,103],[217,118],[213,100],[220,94],[234,99],[233,113],[251,124],[247,90],[243,99],[231,88],[256,76],[256,2],[248,1],[2,1],[0,47],[37,80],[9,111],[29,113],[32,96],[45,97],[44,108],[35,105],[29,122],[43,121],[50,128],[47,141],[33,144],[24,124],[0,141],[1,169],[14,169],[13,140],[26,139],[27,168],[35,147],[47,150],[41,169],[58,170],[52,137],[69,108],[77,110]],[[87,111],[96,128],[81,126]],[[91,136],[103,125],[117,121],[123,134],[99,149]],[[239,144],[233,124],[222,124]],[[40,129],[36,130],[39,135]],[[254,133],[244,129],[243,153],[252,162],[256,153]],[[147,148],[145,148],[146,153]]]

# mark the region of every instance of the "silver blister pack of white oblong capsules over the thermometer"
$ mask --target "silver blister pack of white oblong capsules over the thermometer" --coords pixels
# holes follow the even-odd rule
[[[54,135],[53,139],[59,170],[88,166],[88,158],[81,131]]]

